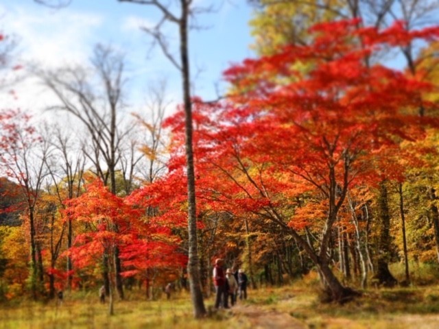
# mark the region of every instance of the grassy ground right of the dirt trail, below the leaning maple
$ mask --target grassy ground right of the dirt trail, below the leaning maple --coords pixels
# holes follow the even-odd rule
[[[370,289],[344,305],[321,304],[309,289],[276,289],[254,304],[288,313],[305,328],[439,328],[439,287]]]

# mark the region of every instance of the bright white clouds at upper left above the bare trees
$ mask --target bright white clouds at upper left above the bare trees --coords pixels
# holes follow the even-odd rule
[[[21,64],[26,71],[32,64],[56,69],[68,64],[88,63],[97,41],[94,40],[95,32],[104,22],[102,16],[73,10],[54,11],[43,6],[29,8],[27,5],[0,7],[4,32],[18,40],[14,64]],[[18,71],[17,74],[23,73]],[[21,80],[12,88],[16,96],[2,93],[0,108],[22,108],[41,114],[43,108],[57,102],[34,77]]]

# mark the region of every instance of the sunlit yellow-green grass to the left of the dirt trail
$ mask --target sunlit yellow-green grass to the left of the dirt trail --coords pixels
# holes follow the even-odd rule
[[[189,295],[182,293],[171,300],[148,301],[134,293],[115,302],[115,315],[108,315],[108,304],[100,304],[97,294],[65,294],[64,302],[22,302],[20,305],[3,305],[0,308],[0,328],[250,328],[245,319],[230,320],[232,315],[219,310],[210,317],[196,321]],[[211,300],[205,301],[206,308]]]

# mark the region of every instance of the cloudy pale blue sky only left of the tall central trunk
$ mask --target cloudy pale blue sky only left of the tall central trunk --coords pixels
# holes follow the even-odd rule
[[[32,4],[32,0],[27,0]],[[88,0],[90,1],[90,0]],[[97,42],[110,43],[115,49],[126,52],[126,76],[130,78],[128,102],[138,108],[145,101],[145,85],[154,80],[169,78],[169,93],[172,99],[180,99],[180,77],[163,56],[161,49],[154,48],[148,53],[152,39],[141,26],[156,24],[136,15],[121,16],[93,14],[89,11],[49,10],[43,6],[0,5],[1,23],[8,34],[19,38],[19,59],[16,61],[29,66],[36,63],[43,69],[56,69],[66,65],[88,65],[93,46]],[[0,25],[1,25],[0,23]],[[1,26],[0,26],[1,30]],[[178,29],[167,24],[164,30],[172,45],[172,53],[178,55]],[[25,71],[25,69],[23,70]],[[21,108],[40,116],[43,109],[58,103],[58,99],[35,77],[21,81],[14,86],[16,99],[10,94],[0,93],[0,108]],[[172,107],[174,108],[174,106]],[[54,112],[43,114],[54,116]],[[56,117],[60,117],[58,114]]]

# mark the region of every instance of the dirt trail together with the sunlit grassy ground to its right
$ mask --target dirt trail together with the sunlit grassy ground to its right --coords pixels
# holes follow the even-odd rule
[[[346,304],[323,304],[315,289],[266,289],[230,310],[251,328],[436,329],[439,287],[368,289]]]

